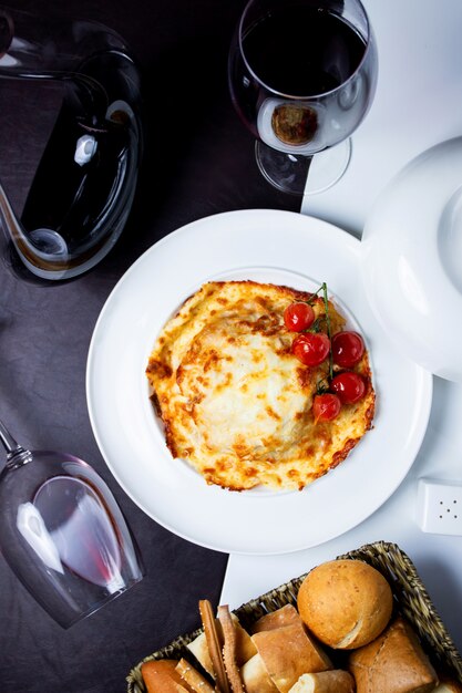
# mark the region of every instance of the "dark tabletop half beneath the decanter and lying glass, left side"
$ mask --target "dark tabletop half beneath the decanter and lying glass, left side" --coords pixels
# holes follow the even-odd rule
[[[11,4],[45,18],[107,24],[132,46],[142,73],[145,157],[135,204],[115,248],[88,275],[48,287],[18,279],[0,258],[0,417],[22,445],[66,451],[94,466],[132,526],[147,576],[121,599],[64,631],[0,558],[0,691],[122,693],[133,665],[198,625],[198,599],[207,597],[217,604],[227,556],[157,526],[109,473],[85,400],[86,354],[95,321],[132,262],[177,227],[233,209],[298,211],[300,200],[275,192],[261,178],[251,135],[228,95],[227,50],[244,2]],[[50,85],[0,80],[0,179],[19,214],[59,103]]]

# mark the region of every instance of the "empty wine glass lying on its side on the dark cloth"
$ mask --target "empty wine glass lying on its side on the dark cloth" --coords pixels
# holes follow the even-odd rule
[[[106,484],[73,455],[28,451],[0,422],[0,549],[63,628],[143,577],[138,550]]]

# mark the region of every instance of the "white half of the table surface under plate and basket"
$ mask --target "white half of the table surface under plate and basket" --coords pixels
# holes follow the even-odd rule
[[[306,196],[301,205],[302,214],[358,237],[374,199],[405,163],[462,134],[462,2],[365,0],[365,6],[379,52],[376,99],[353,135],[345,176],[329,190]],[[361,525],[321,546],[281,556],[232,555],[222,603],[237,608],[324,560],[363,544],[392,541],[414,562],[462,652],[462,537],[425,534],[417,517],[419,478],[462,483],[462,385],[433,380],[424,441],[391,498]]]

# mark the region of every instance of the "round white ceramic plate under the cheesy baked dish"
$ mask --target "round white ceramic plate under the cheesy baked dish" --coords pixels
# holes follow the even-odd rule
[[[360,242],[296,213],[245,210],[189,224],[147,250],[109,297],[90,345],[86,393],[100,449],[148,516],[195,544],[284,554],[351,529],[399,486],[421,445],[432,379],[396,351],[374,319],[359,271]],[[154,341],[185,298],[211,278],[311,289],[327,281],[363,335],[377,390],[374,427],[348,458],[302,492],[227,492],[172,459],[148,400]]]

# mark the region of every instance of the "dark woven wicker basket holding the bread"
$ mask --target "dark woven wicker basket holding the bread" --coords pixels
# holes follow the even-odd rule
[[[443,668],[462,683],[462,659],[408,556],[396,544],[379,541],[362,546],[338,558],[363,560],[387,578],[394,596],[397,610],[413,625],[433,664]],[[248,601],[234,613],[244,628],[249,628],[265,613],[275,611],[287,603],[296,604],[298,589],[304,578],[305,575]],[[191,652],[186,645],[201,632],[202,629],[198,629],[186,635],[179,635],[168,645],[140,662],[127,676],[129,693],[146,693],[141,675],[141,665],[144,662],[181,656],[191,659]]]

